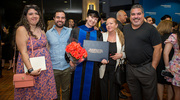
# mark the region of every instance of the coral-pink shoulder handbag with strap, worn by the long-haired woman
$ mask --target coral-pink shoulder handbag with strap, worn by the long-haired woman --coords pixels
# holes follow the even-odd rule
[[[31,42],[31,45],[32,45],[32,42]],[[16,55],[16,45],[15,45],[14,57],[13,57],[13,72],[14,73],[15,73],[15,55]],[[13,84],[15,88],[33,87],[35,84],[35,80],[34,80],[34,77],[29,74],[19,73],[19,74],[14,74]]]

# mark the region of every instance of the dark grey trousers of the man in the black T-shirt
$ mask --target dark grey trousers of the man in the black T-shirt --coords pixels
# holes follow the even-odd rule
[[[133,100],[157,100],[157,76],[151,62],[138,67],[127,63],[126,74]]]

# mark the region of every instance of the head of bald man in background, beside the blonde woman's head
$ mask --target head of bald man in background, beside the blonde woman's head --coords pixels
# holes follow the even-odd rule
[[[116,14],[118,28],[123,32],[124,24],[126,23],[127,14],[124,10],[119,10]]]

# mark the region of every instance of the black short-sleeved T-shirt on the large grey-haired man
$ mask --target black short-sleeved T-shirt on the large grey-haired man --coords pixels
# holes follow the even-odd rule
[[[132,64],[141,64],[153,56],[153,46],[161,43],[161,36],[156,28],[143,23],[138,29],[131,24],[125,25],[125,52],[127,60]]]

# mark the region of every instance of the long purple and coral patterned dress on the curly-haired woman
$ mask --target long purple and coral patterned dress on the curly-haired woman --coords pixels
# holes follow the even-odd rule
[[[46,69],[41,71],[41,74],[34,76],[35,86],[29,88],[14,89],[14,100],[52,100],[57,98],[56,84],[49,51],[46,48],[47,40],[44,34],[41,33],[40,39],[35,39],[31,36],[33,44],[34,57],[45,56]],[[32,48],[30,38],[27,42],[27,51],[29,57],[32,57]],[[24,73],[24,64],[19,53],[17,61],[16,73]]]

